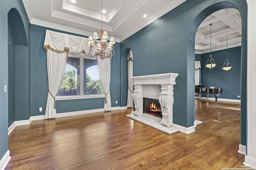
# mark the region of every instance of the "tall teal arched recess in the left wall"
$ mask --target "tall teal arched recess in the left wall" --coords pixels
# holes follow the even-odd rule
[[[30,117],[30,58],[19,12],[8,12],[8,127]]]

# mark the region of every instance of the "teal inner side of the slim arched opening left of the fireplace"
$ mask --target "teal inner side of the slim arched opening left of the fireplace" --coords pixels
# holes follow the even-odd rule
[[[128,66],[127,66],[127,55],[130,52],[130,48],[126,48],[121,56],[120,60],[120,106],[127,105],[127,93],[128,93]]]

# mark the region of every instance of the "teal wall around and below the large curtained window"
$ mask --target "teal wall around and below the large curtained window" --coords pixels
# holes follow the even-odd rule
[[[31,116],[44,115],[46,107],[46,99],[48,94],[48,76],[46,53],[43,48],[46,29],[61,33],[68,33],[31,24]],[[77,35],[73,33],[68,34]],[[120,44],[116,43],[114,46],[115,55],[111,60],[110,78],[110,96],[112,107],[120,106]],[[118,101],[118,104],[115,103],[116,100]],[[42,112],[39,112],[39,107],[43,107]],[[59,100],[56,102],[57,113],[100,108],[104,108],[104,98]]]

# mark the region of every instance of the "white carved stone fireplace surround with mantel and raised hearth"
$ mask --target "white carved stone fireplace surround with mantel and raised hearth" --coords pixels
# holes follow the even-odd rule
[[[126,116],[168,134],[180,131],[180,129],[172,126],[173,86],[176,84],[177,76],[178,73],[164,73],[131,77],[134,85],[132,98],[135,110]],[[143,113],[143,98],[159,100],[162,118]]]

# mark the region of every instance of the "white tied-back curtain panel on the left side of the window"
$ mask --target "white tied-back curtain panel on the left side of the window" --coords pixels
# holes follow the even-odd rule
[[[56,53],[52,50],[47,50],[47,72],[48,72],[48,95],[44,118],[56,117],[56,108],[54,108],[54,98],[56,97],[62,77],[65,72],[67,52]]]

